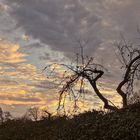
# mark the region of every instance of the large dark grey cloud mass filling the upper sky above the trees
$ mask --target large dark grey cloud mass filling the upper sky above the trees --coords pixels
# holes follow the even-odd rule
[[[6,1],[17,28],[66,56],[78,51],[77,39],[90,40],[85,50],[88,55],[99,47],[109,51],[111,42],[120,39],[120,33],[133,41],[140,25],[139,0]],[[114,53],[106,56],[107,61],[112,56]]]

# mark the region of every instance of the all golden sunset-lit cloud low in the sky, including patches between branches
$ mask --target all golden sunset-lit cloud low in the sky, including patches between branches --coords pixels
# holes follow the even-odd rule
[[[20,46],[6,41],[0,41],[0,106],[47,106],[52,112],[56,111],[58,105],[58,90],[50,89],[51,84],[57,85],[59,81],[53,78],[47,78],[37,70],[37,68],[29,64],[26,60],[26,54],[20,52]],[[57,71],[55,78],[62,78],[65,69],[57,64],[52,65],[50,69]],[[69,73],[70,74],[70,73]],[[58,80],[59,80],[58,79]],[[77,83],[78,87],[80,83]],[[98,108],[101,101],[95,97],[93,89],[88,90],[85,98],[79,100],[79,111],[86,109]],[[112,89],[101,89],[108,98],[113,94]],[[112,100],[118,100],[113,98]],[[111,100],[111,101],[112,101]],[[117,101],[115,101],[117,102]],[[73,102],[66,100],[67,108],[72,110]],[[16,110],[16,108],[15,108]],[[68,109],[68,111],[70,111]],[[22,110],[17,112],[24,113]]]

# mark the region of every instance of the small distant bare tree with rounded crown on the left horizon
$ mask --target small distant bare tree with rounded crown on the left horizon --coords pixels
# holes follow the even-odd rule
[[[32,107],[27,110],[27,114],[31,117],[32,120],[38,121],[40,118],[40,109],[39,107]]]

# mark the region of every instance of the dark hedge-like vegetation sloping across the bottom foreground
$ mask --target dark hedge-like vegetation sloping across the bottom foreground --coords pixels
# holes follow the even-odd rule
[[[40,121],[9,120],[0,125],[0,140],[139,140],[140,103],[111,113],[92,111]]]

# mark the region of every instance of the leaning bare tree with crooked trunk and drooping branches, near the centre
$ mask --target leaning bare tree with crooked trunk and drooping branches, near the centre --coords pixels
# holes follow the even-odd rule
[[[74,108],[77,108],[77,101],[82,93],[85,92],[85,83],[90,83],[96,95],[104,103],[104,108],[110,110],[116,110],[117,107],[103,96],[100,92],[97,84],[98,80],[103,76],[104,71],[107,71],[105,67],[100,64],[94,63],[93,57],[84,56],[84,47],[87,45],[87,42],[77,41],[80,47],[80,55],[76,54],[76,60],[70,65],[66,64],[57,64],[62,66],[65,71],[61,77],[61,82],[58,84],[60,87],[59,91],[59,104],[58,110],[64,108],[65,98],[69,95],[74,100]],[[52,66],[54,67],[52,68]],[[52,68],[51,73],[55,70],[55,64],[51,64],[45,69]],[[49,70],[48,70],[49,71]],[[56,75],[57,72],[55,72]],[[78,87],[77,87],[78,86]]]

